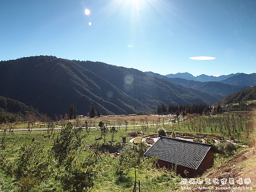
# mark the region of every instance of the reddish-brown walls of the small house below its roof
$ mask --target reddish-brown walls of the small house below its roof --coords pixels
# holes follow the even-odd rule
[[[194,177],[196,175],[202,175],[207,169],[209,169],[213,165],[213,159],[214,153],[210,149],[198,169],[190,169],[179,165],[175,166],[173,163],[163,160],[158,160],[158,164],[159,167],[166,167],[167,169],[177,172],[177,174],[180,174],[182,177]],[[185,170],[186,172],[189,172],[187,175],[184,174]]]

